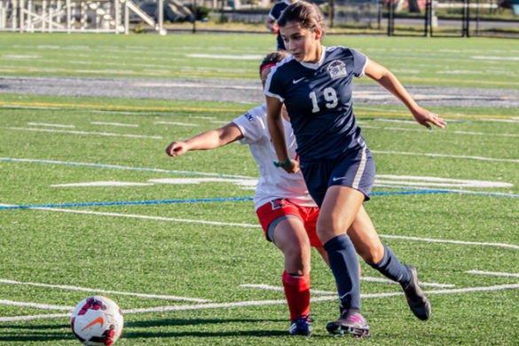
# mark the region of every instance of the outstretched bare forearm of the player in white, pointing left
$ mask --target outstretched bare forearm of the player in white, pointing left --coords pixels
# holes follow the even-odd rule
[[[190,150],[208,150],[227,145],[243,138],[240,128],[234,122],[229,122],[222,128],[208,130],[185,142],[172,142],[166,148],[166,153],[176,157]]]

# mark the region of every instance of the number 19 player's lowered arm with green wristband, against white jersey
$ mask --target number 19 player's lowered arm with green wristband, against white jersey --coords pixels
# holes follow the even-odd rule
[[[289,160],[287,150],[287,140],[285,138],[285,127],[283,126],[283,117],[281,116],[281,106],[283,104],[278,98],[265,96],[267,99],[267,125],[271,133],[272,145],[276,150],[276,155],[281,163]],[[299,165],[295,160],[290,160],[290,166],[282,166],[288,173],[295,173],[299,169]]]

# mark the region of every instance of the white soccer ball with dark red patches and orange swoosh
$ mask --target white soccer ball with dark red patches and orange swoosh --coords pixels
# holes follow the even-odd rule
[[[85,345],[111,345],[122,334],[122,311],[112,299],[93,295],[75,306],[70,325]]]

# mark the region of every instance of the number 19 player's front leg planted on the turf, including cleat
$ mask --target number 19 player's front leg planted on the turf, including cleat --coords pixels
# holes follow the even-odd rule
[[[368,335],[369,326],[360,311],[358,257],[346,230],[355,220],[364,193],[349,186],[333,185],[326,191],[318,218],[318,237],[324,243],[341,301],[341,317],[326,325],[332,334]]]

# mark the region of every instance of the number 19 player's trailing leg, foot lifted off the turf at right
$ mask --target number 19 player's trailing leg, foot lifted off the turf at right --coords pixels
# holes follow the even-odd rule
[[[364,207],[359,208],[348,235],[358,255],[366,263],[387,278],[400,283],[414,315],[423,320],[428,319],[431,313],[430,303],[418,284],[416,269],[412,265],[401,263],[393,251],[381,242]]]

